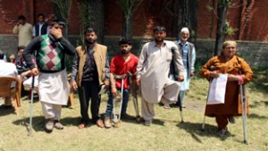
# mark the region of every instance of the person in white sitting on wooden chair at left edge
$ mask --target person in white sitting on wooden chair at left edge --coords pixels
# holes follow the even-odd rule
[[[4,52],[0,50],[0,77],[12,76],[18,77],[18,71],[13,63],[6,63],[4,61]],[[12,96],[4,98],[4,105],[6,107],[12,107]]]

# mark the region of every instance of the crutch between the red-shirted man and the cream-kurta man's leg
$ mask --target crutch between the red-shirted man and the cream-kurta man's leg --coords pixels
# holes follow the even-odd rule
[[[130,71],[128,71],[128,75],[129,75],[129,80],[130,80],[130,87],[134,85],[133,81],[132,81],[132,74]],[[140,122],[141,121],[141,117],[139,115],[139,111],[138,111],[138,97],[137,97],[137,91],[135,88],[130,88],[131,91],[131,95],[132,95],[132,100],[133,100],[133,105],[134,105],[134,109],[136,112],[136,122]]]

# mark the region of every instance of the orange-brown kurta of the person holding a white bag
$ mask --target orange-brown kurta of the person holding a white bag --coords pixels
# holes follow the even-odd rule
[[[221,73],[229,73],[233,75],[239,75],[241,71],[241,76],[245,83],[252,80],[253,71],[250,69],[246,61],[237,55],[234,55],[230,60],[226,61],[223,55],[214,56],[211,58],[199,74],[209,80],[209,69],[214,66],[214,71],[220,71]],[[247,108],[248,113],[248,108]],[[214,116],[216,114],[226,114],[226,115],[239,115],[241,114],[241,103],[239,99],[239,85],[238,81],[227,81],[226,93],[225,93],[225,103],[220,105],[206,105],[205,115]]]

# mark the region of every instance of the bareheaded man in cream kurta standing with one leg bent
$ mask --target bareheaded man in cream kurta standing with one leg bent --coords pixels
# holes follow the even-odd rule
[[[177,102],[180,84],[168,78],[172,55],[174,55],[177,70],[180,72],[178,80],[184,80],[183,64],[178,47],[174,42],[164,40],[165,28],[155,27],[154,37],[154,41],[142,47],[137,66],[136,81],[141,86],[141,113],[147,126],[151,124],[155,116],[154,104],[162,102],[163,105],[170,105]]]

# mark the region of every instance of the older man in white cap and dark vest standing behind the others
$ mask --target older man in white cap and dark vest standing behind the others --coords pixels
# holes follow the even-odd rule
[[[186,94],[186,91],[189,89],[189,81],[191,77],[194,77],[195,71],[195,62],[196,62],[196,48],[194,44],[189,43],[187,40],[189,38],[188,28],[182,28],[180,30],[180,39],[176,41],[176,44],[179,47],[179,51],[182,57],[182,62],[184,66],[184,80],[180,83],[180,93],[178,96],[178,102],[176,105],[180,105],[185,108],[183,105],[183,99]]]

